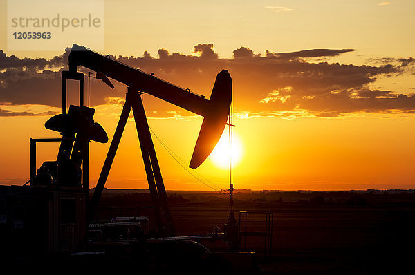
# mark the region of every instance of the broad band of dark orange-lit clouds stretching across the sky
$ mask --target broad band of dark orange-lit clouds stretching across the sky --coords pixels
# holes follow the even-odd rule
[[[213,44],[198,44],[196,55],[169,53],[158,50],[158,57],[146,51],[142,57],[110,57],[140,68],[156,77],[183,88],[190,88],[209,98],[214,78],[222,69],[232,76],[234,111],[273,115],[276,112],[292,115],[304,110],[315,116],[335,117],[352,112],[411,113],[415,111],[414,95],[402,91],[371,90],[369,84],[377,77],[410,72],[415,61],[408,59],[378,59],[378,66],[356,66],[338,63],[307,61],[308,57],[330,57],[353,50],[302,50],[293,53],[253,53],[248,47],[234,50],[233,59],[222,59],[214,53]],[[53,59],[19,59],[0,51],[0,103],[46,104],[60,107],[60,70],[66,66],[68,52]],[[372,60],[374,61],[374,60]],[[373,62],[372,62],[373,64]],[[59,68],[59,70],[52,68]],[[80,68],[87,72],[87,69]],[[91,87],[91,106],[105,104],[106,97],[122,97],[124,84],[111,80],[111,90],[98,80]],[[71,91],[75,91],[72,86]],[[68,93],[76,102],[76,93]],[[190,115],[160,99],[145,97],[149,115]],[[176,113],[172,113],[172,111]],[[169,112],[169,113],[168,113]],[[281,116],[281,115],[280,115]]]

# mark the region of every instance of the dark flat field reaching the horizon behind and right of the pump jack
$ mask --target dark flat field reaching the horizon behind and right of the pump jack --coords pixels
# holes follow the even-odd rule
[[[293,195],[293,194],[291,194]],[[273,213],[272,249],[248,237],[264,274],[413,274],[415,200],[412,193],[240,193],[234,212]],[[228,200],[175,193],[170,203],[179,236],[223,229]],[[216,199],[215,199],[216,198]],[[273,198],[276,198],[273,200]],[[244,223],[241,222],[244,231]],[[248,214],[247,231],[265,231],[265,214]],[[225,243],[203,242],[212,251]],[[241,248],[245,239],[241,238]]]

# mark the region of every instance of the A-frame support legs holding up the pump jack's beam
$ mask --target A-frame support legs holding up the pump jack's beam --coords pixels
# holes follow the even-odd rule
[[[144,106],[142,105],[141,95],[138,90],[130,87],[127,91],[126,100],[124,107],[122,108],[116,132],[114,133],[113,140],[109,146],[107,158],[105,158],[100,178],[98,179],[98,183],[91,199],[91,205],[89,207],[89,220],[93,220],[95,209],[98,206],[105,182],[107,182],[109,171],[116,156],[118,144],[120,144],[121,136],[124,131],[125,124],[127,124],[131,108],[133,109],[134,120],[136,122],[138,140],[140,140],[142,160],[144,162],[151,200],[153,202],[156,227],[160,234],[172,236],[174,235],[172,214],[170,213],[167,202],[167,193],[163,183],[163,178],[161,176],[160,167],[158,166],[156,151],[154,149],[153,140],[151,139],[151,133],[147,123],[147,117],[145,116]]]

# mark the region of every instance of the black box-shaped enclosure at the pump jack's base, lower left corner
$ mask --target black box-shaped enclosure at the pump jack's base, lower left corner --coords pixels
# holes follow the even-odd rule
[[[84,189],[0,186],[1,256],[37,258],[82,250],[85,215]]]

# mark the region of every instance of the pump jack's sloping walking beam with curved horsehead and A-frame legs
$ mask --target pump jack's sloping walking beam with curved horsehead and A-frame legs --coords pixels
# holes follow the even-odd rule
[[[210,155],[214,149],[219,138],[221,138],[226,121],[228,120],[230,104],[232,102],[232,79],[230,78],[228,71],[222,70],[216,76],[212,95],[208,100],[201,95],[196,95],[183,88],[179,88],[178,86],[158,79],[153,74],[149,75],[139,69],[104,57],[88,48],[76,44],[74,44],[71,49],[68,62],[69,72],[71,73],[77,71],[77,66],[83,66],[90,70],[94,70],[101,76],[103,75],[104,77],[102,77],[102,79],[110,87],[112,84],[107,77],[116,79],[118,82],[122,82],[128,86],[120,120],[116,127],[113,140],[111,141],[104,166],[102,167],[100,178],[95,187],[93,198],[89,205],[89,219],[92,220],[94,211],[98,206],[102,190],[104,189],[105,182],[107,181],[111,169],[111,164],[113,163],[118,144],[120,143],[122,132],[124,131],[124,126],[127,123],[132,108],[151,193],[151,200],[154,205],[156,225],[160,234],[165,236],[174,235],[172,215],[170,214],[167,194],[160,167],[158,165],[156,151],[154,150],[154,144],[151,140],[141,95],[143,93],[148,93],[149,95],[153,95],[204,117],[189,165],[190,168],[196,169],[206,158],[208,158],[208,155]],[[113,86],[111,88],[113,88]]]

